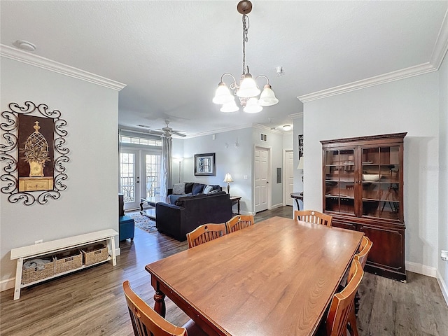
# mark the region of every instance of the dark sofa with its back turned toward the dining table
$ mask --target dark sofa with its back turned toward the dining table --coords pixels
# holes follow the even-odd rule
[[[180,197],[176,204],[158,202],[155,214],[158,231],[179,241],[186,240],[187,233],[202,224],[225,223],[233,216],[232,202],[225,191]]]

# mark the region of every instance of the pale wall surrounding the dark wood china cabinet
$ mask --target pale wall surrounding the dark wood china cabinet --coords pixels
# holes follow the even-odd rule
[[[437,267],[439,172],[437,71],[304,104],[304,207],[322,209],[319,140],[407,132],[405,260]],[[445,202],[446,206],[446,202]],[[434,274],[435,275],[435,274]]]

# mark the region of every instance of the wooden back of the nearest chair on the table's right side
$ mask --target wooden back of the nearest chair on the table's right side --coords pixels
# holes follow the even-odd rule
[[[347,286],[333,296],[326,322],[327,336],[346,335],[349,318],[354,311],[354,299],[359,284],[364,276],[363,267],[358,260],[351,262],[350,273],[353,274]],[[356,330],[356,325],[354,326]],[[358,330],[356,330],[356,335]]]

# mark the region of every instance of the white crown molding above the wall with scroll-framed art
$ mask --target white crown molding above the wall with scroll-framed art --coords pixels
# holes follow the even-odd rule
[[[120,91],[126,84],[0,43],[0,56]]]

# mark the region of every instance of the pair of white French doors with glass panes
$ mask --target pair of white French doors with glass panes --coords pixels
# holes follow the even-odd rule
[[[125,210],[138,209],[141,198],[157,202],[160,193],[160,151],[122,148],[120,151],[120,193]]]

